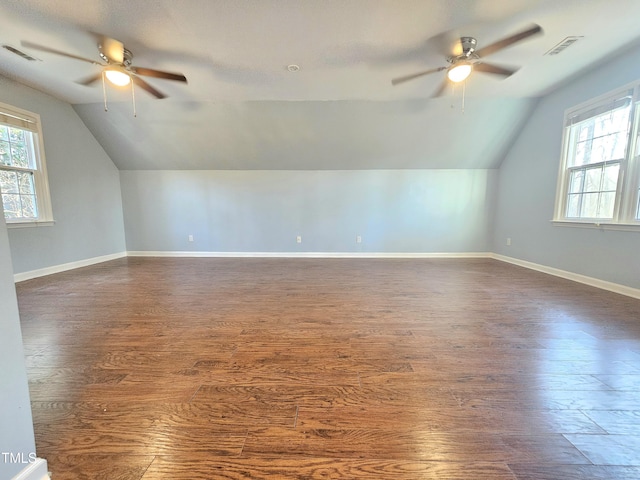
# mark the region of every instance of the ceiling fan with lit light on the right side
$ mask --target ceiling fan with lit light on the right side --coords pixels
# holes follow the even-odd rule
[[[453,55],[447,56],[446,60],[449,62],[447,67],[437,67],[425,70],[422,72],[406,75],[404,77],[398,77],[391,80],[392,85],[398,85],[399,83],[408,82],[414,78],[429,75],[431,73],[447,71],[447,77],[444,79],[438,90],[432,95],[432,97],[438,97],[442,95],[449,81],[457,83],[465,80],[472,71],[493,73],[496,75],[502,75],[503,77],[509,77],[513,75],[518,69],[501,67],[491,63],[485,63],[483,58],[495,53],[503,48],[507,48],[514,43],[520,42],[526,38],[542,32],[540,25],[533,25],[526,30],[523,30],[514,35],[498,40],[491,45],[476,50],[477,41],[473,37],[461,37],[459,42],[456,43],[455,52]]]

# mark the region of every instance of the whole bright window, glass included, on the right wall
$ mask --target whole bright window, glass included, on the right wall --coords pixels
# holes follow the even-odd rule
[[[628,87],[565,114],[554,220],[640,225],[639,91]]]

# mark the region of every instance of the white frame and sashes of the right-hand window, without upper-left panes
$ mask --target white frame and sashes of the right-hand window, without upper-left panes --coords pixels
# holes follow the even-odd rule
[[[581,167],[569,166],[573,154],[572,118],[589,111],[613,105],[616,99],[625,93],[631,94],[629,113],[629,131],[625,155],[620,159],[620,171],[615,195],[612,218],[567,217],[569,182],[571,172],[577,168],[596,167],[598,164],[585,164]],[[606,113],[605,110],[602,113]],[[557,225],[576,227],[610,228],[615,230],[640,230],[640,83],[633,82],[616,90],[607,92],[579,105],[565,110],[563,119],[562,150],[559,162],[556,186],[556,201],[552,222]],[[618,159],[602,162],[612,165]]]

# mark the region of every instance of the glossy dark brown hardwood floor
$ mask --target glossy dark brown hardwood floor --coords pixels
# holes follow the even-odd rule
[[[54,480],[640,478],[640,300],[489,259],[17,285]]]

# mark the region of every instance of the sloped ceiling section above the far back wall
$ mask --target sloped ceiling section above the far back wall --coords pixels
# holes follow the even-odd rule
[[[121,170],[343,170],[496,168],[531,103],[146,102],[137,118],[122,103],[74,108]]]

